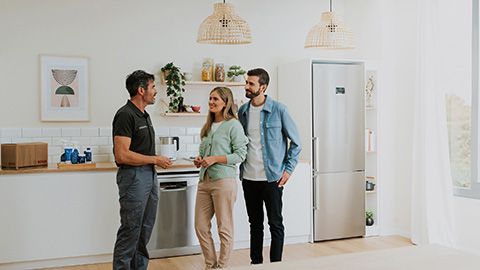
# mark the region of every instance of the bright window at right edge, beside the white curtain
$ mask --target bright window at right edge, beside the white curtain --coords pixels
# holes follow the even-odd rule
[[[463,1],[459,1],[463,2]],[[457,4],[457,3],[456,3]],[[450,168],[455,195],[480,199],[479,162],[479,0],[460,4],[452,40],[456,59],[446,59],[454,75],[452,85],[447,86],[446,111]],[[451,11],[451,10],[450,10]],[[471,16],[461,17],[463,14]],[[459,42],[460,41],[460,42]],[[462,42],[465,41],[465,42]],[[453,44],[447,44],[453,45]],[[450,62],[452,60],[453,62]],[[453,65],[450,65],[453,63]],[[448,76],[448,73],[443,75]]]

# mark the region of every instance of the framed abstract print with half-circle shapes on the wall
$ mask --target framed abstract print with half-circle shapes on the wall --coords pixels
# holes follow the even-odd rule
[[[88,59],[40,55],[41,121],[89,121]]]

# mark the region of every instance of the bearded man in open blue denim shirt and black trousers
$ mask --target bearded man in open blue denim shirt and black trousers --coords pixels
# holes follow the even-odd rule
[[[270,262],[282,260],[285,237],[282,192],[298,163],[301,146],[297,127],[285,105],[265,95],[268,73],[257,68],[247,75],[245,96],[251,101],[238,110],[249,139],[240,179],[250,222],[250,259],[252,264],[260,264],[263,263],[263,203],[272,236]]]

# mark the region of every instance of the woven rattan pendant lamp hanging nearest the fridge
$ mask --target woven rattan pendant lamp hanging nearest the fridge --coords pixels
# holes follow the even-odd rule
[[[332,12],[332,0],[330,0],[330,11],[323,12],[320,23],[308,32],[307,39],[305,40],[305,48],[355,48],[352,32],[350,32],[343,24],[343,21]]]

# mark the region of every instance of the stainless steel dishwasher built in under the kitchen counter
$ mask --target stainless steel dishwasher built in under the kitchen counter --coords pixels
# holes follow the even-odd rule
[[[158,171],[157,218],[147,245],[151,258],[198,254],[194,209],[198,170]]]

